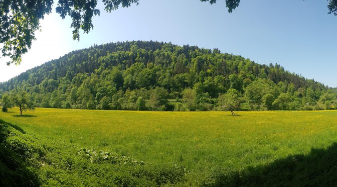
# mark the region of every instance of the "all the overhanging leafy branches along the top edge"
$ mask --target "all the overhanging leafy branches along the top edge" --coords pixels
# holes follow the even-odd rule
[[[217,0],[199,0],[215,4]],[[59,0],[56,12],[62,19],[71,17],[73,40],[80,40],[80,31],[88,33],[92,28],[93,16],[100,15],[96,9],[97,0]],[[102,0],[106,12],[138,5],[139,0]],[[240,0],[226,0],[231,13],[239,6]],[[0,1],[0,44],[2,55],[10,57],[7,63],[20,64],[22,55],[31,48],[35,32],[39,30],[40,20],[52,12],[53,0],[2,0]],[[337,0],[329,0],[330,14],[337,15]]]

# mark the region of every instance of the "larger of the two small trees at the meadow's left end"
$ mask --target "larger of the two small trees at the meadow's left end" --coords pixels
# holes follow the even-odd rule
[[[32,101],[30,95],[26,91],[21,91],[19,93],[12,94],[12,100],[15,106],[20,109],[20,116],[22,116],[23,111],[34,111],[34,102]]]

